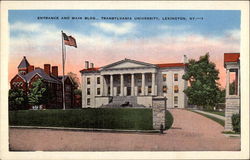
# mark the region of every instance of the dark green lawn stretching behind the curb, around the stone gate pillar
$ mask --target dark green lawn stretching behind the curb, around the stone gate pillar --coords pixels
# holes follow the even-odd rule
[[[167,111],[166,128],[173,122]],[[86,108],[69,110],[19,110],[9,112],[12,126],[152,130],[152,109]]]

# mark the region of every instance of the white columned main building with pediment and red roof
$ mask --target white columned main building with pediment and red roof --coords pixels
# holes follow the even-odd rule
[[[167,97],[167,108],[185,108],[185,63],[150,64],[124,59],[101,68],[85,61],[81,70],[82,107],[151,107]]]

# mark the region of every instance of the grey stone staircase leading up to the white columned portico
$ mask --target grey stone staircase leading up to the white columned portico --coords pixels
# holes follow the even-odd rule
[[[136,96],[113,96],[110,103],[102,107],[103,108],[119,108],[119,107],[145,108],[145,106],[137,104]]]

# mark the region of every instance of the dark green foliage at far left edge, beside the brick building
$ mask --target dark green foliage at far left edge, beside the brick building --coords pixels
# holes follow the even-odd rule
[[[9,90],[9,110],[25,109],[27,98],[22,89]]]

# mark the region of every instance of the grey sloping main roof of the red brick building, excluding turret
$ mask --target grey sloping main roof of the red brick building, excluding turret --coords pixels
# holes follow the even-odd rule
[[[34,71],[25,74],[24,77],[29,82],[36,74],[38,74],[45,81],[52,82],[52,83],[60,83],[59,79],[49,76],[41,68],[37,68]]]

